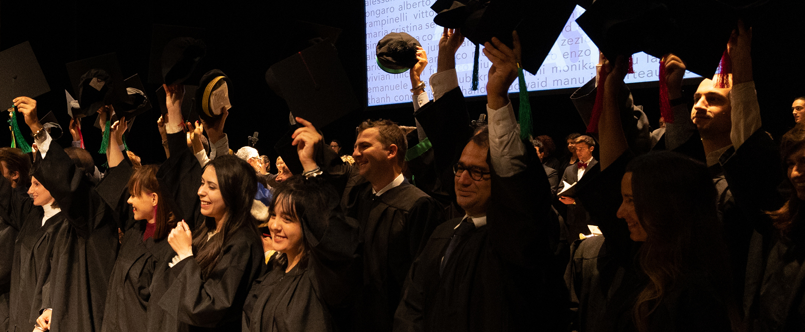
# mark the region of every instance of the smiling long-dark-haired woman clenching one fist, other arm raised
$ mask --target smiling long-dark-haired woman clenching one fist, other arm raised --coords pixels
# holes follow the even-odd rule
[[[253,205],[262,205],[254,203],[257,176],[236,156],[218,156],[202,169],[182,131],[183,91],[175,86],[166,91],[171,156],[156,176],[181,221],[167,235],[175,256],[151,286],[159,298],[151,298],[148,330],[240,330],[243,302],[266,266],[252,214]],[[204,127],[222,132],[225,117],[224,110]]]

